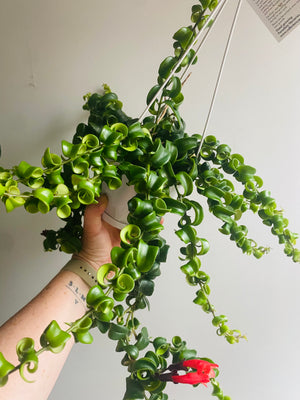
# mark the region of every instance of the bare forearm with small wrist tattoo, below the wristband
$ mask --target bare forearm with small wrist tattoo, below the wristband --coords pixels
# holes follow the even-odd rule
[[[31,337],[35,348],[47,325],[56,320],[62,329],[65,322],[73,322],[85,310],[88,285],[70,271],[60,272],[29,304],[0,327],[0,351],[12,364],[17,365],[16,343],[23,337]],[[69,355],[74,340],[71,338],[60,354],[44,352],[39,357],[39,368],[29,376],[34,383],[24,382],[17,372],[9,376],[8,383],[0,388],[0,400],[47,399]]]

